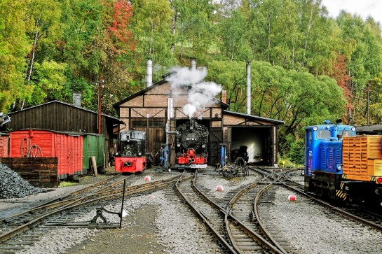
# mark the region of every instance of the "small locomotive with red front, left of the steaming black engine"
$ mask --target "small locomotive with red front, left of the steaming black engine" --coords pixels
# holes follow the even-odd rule
[[[146,169],[151,158],[146,152],[146,132],[131,129],[120,133],[118,151],[114,153],[114,169],[121,173],[135,173]]]

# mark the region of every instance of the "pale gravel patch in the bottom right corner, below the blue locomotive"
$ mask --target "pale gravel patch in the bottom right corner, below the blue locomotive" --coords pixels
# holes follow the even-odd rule
[[[320,209],[296,197],[289,202],[289,190],[275,192],[271,215],[285,239],[299,249],[298,254],[379,254],[382,234],[359,223],[340,223]]]

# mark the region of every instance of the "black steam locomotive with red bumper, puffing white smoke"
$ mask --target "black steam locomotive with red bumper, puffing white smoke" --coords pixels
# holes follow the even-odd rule
[[[177,127],[176,168],[205,168],[208,159],[208,129],[194,118]]]

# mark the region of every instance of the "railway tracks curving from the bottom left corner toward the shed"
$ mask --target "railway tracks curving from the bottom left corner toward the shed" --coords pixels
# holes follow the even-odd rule
[[[41,234],[46,234],[48,227],[96,227],[110,228],[118,225],[110,225],[107,223],[97,223],[95,220],[85,223],[75,223],[76,217],[86,214],[90,211],[99,209],[113,202],[121,203],[123,194],[142,195],[151,190],[163,188],[167,185],[175,184],[180,174],[172,174],[165,176],[158,181],[149,183],[130,185],[128,187],[120,187],[121,183],[126,183],[126,180],[133,183],[137,181],[134,176],[128,178],[111,178],[104,183],[97,183],[95,186],[90,186],[86,190],[76,191],[67,195],[64,200],[57,199],[55,202],[48,202],[42,206],[36,206],[16,216],[10,216],[1,220],[0,225],[0,253],[14,253],[15,251],[29,246],[41,237]],[[123,182],[121,182],[123,181]],[[108,183],[107,183],[108,182]],[[80,195],[81,194],[81,195]],[[120,212],[121,213],[121,212]],[[117,214],[118,216],[119,214]],[[97,214],[94,213],[94,218]],[[100,216],[102,218],[102,216]]]

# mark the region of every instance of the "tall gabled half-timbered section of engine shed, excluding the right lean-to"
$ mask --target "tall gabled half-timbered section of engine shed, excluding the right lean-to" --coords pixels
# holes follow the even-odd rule
[[[176,94],[176,95],[175,95]],[[166,138],[166,125],[169,132],[175,132],[176,127],[189,121],[190,117],[183,111],[183,106],[187,101],[187,92],[172,90],[170,83],[162,80],[150,87],[146,87],[130,97],[127,97],[114,107],[118,115],[125,122],[120,125],[119,131],[136,129],[146,132],[146,152],[156,155],[161,146],[168,141],[172,152],[175,148],[175,134],[168,134]],[[168,118],[168,101],[172,98],[173,117]],[[210,153],[209,161],[218,160],[219,143],[223,141],[222,111],[228,105],[218,99],[214,104],[196,113],[194,118],[201,125],[205,125],[210,132]],[[175,152],[170,153],[170,164],[175,163]],[[154,164],[158,162],[158,157],[154,157]]]

